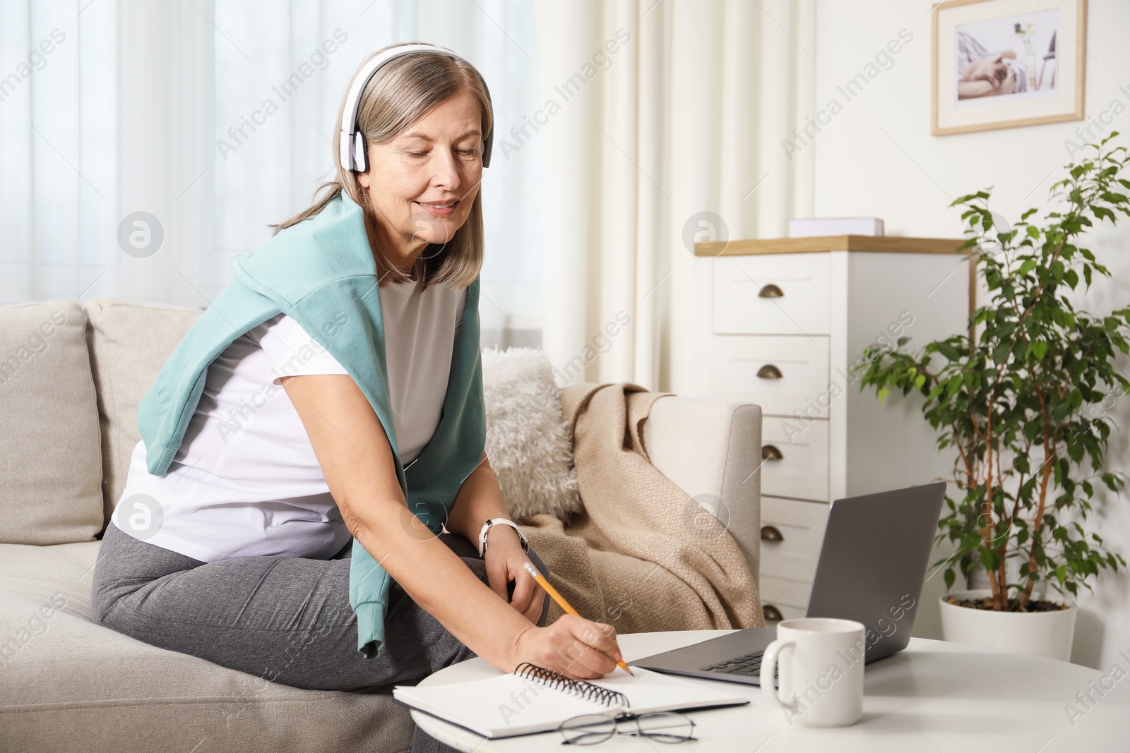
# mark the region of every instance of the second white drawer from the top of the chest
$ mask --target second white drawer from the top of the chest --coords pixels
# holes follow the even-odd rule
[[[827,418],[828,338],[767,334],[714,336],[714,397],[750,401],[763,414]]]

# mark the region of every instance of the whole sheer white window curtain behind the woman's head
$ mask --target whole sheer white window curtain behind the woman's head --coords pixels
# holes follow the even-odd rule
[[[308,205],[329,175],[340,98],[363,58],[393,42],[451,47],[486,77],[501,137],[537,106],[533,10],[518,0],[6,0],[0,304],[207,306],[232,256],[266,243],[267,225]],[[50,53],[37,52],[43,41]],[[541,148],[495,149],[481,186],[484,342],[538,344]],[[123,221],[159,247],[123,246]]]

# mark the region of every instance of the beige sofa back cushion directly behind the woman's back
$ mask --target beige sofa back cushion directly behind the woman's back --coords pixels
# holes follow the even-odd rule
[[[90,367],[98,387],[105,518],[125,488],[130,454],[141,440],[138,403],[201,312],[92,298],[84,305]]]

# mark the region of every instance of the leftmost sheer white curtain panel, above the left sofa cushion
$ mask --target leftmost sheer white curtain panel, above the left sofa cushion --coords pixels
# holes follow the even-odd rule
[[[0,2],[0,305],[77,298],[120,253],[114,24],[113,2]]]

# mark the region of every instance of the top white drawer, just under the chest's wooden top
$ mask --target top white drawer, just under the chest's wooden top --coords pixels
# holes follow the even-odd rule
[[[714,260],[718,334],[831,334],[829,254]]]

